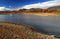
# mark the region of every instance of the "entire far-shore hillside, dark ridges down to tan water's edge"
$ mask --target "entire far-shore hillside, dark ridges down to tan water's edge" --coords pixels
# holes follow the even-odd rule
[[[15,11],[0,11],[0,14],[32,14],[39,16],[60,16],[60,6],[53,6],[48,9],[31,8]]]

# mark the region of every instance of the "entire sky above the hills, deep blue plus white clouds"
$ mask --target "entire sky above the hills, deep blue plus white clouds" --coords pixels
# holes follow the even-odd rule
[[[60,0],[0,0],[0,11],[60,6]]]

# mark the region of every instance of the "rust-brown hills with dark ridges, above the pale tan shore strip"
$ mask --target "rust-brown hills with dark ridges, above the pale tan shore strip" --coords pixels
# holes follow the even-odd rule
[[[24,13],[60,13],[60,9],[20,9],[18,11],[0,11],[0,14],[24,14]]]

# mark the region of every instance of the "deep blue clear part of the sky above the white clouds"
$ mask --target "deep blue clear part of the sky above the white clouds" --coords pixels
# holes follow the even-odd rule
[[[42,3],[49,0],[0,0],[0,7],[17,8],[28,4]]]

